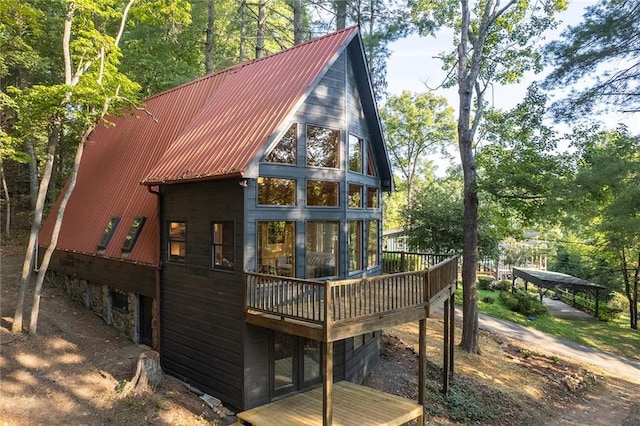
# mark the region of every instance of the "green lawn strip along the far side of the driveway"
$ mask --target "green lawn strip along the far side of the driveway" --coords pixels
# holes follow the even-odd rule
[[[640,331],[629,328],[628,316],[623,315],[615,322],[565,320],[550,315],[541,315],[529,320],[502,305],[499,295],[499,291],[478,290],[478,311],[581,345],[640,361]],[[494,303],[482,302],[485,297],[493,298]],[[456,302],[462,303],[462,286],[459,286],[456,292]]]

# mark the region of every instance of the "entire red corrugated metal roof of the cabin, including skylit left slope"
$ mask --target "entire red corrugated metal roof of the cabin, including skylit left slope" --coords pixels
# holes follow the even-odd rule
[[[351,27],[237,65],[147,99],[146,112],[110,117],[115,126],[98,126],[85,147],[58,250],[96,255],[109,219],[119,216],[101,255],[122,258],[133,218],[145,216],[127,260],[157,264],[157,199],[140,183],[242,175],[356,34]],[[41,246],[51,240],[57,208],[43,224]]]

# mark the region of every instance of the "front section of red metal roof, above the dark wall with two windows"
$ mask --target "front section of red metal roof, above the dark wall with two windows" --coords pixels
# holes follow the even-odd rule
[[[242,174],[356,32],[351,27],[227,71],[144,183]]]

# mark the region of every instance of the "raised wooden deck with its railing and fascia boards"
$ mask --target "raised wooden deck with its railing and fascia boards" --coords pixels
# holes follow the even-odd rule
[[[455,292],[457,265],[326,282],[247,272],[245,320],[323,342],[419,321]]]

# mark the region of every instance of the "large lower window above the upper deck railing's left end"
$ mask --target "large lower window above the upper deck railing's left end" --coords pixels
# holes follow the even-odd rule
[[[295,222],[258,222],[258,272],[295,276]]]

